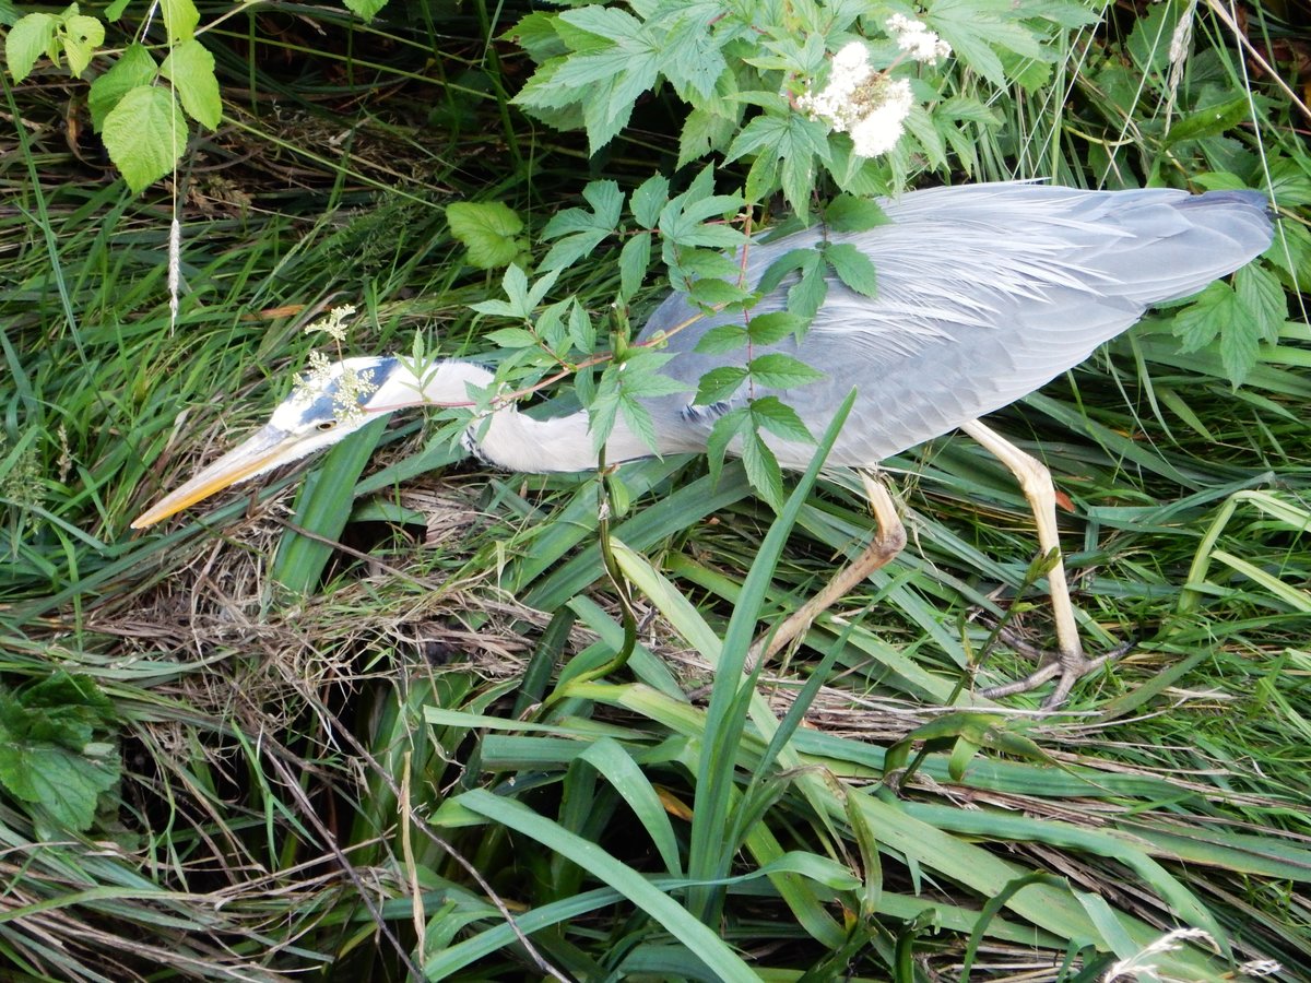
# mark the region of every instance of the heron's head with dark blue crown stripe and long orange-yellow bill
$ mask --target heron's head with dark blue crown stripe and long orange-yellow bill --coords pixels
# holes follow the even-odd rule
[[[451,387],[450,398],[465,398],[464,387]],[[376,419],[379,413],[423,401],[430,400],[423,398],[414,375],[399,359],[347,358],[319,366],[300,380],[265,426],[164,495],[132,528],[153,526],[229,485],[321,451]]]

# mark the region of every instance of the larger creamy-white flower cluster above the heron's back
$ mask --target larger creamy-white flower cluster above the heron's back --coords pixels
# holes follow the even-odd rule
[[[911,105],[910,83],[876,72],[859,41],[834,55],[822,90],[797,98],[804,113],[827,121],[839,134],[850,132],[861,157],[877,157],[897,145]]]

